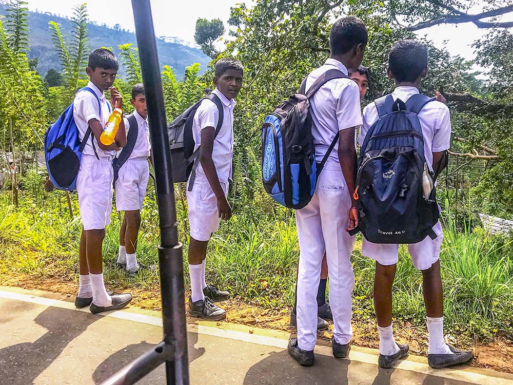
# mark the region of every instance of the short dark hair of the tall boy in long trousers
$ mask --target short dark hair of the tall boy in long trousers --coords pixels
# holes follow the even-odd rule
[[[367,40],[367,28],[363,22],[356,16],[346,16],[331,26],[329,49],[332,55],[340,55],[359,44],[367,45]]]

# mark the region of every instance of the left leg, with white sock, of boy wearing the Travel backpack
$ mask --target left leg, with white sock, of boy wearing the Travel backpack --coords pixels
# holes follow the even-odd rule
[[[392,284],[396,277],[396,270],[397,266],[395,264],[385,266],[376,262],[373,293],[374,309],[376,310],[380,335],[380,356],[394,357],[391,358],[391,362],[400,358],[397,355],[402,355],[392,332]],[[380,366],[386,368],[389,367],[388,363],[381,362],[381,359],[385,357],[380,357]]]

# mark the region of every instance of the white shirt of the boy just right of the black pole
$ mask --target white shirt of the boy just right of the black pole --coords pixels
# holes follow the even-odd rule
[[[233,108],[235,107],[235,101],[225,97],[218,89],[214,89],[212,93],[218,95],[223,104],[223,125],[214,140],[212,160],[219,181],[226,183],[228,179],[231,178],[231,161],[233,158]],[[218,125],[218,121],[218,107],[212,101],[204,100],[196,110],[192,123],[192,136],[195,143],[194,150],[201,145],[201,130],[206,127],[215,128]],[[196,174],[201,176],[205,175],[201,163],[198,165],[198,169],[196,169]]]

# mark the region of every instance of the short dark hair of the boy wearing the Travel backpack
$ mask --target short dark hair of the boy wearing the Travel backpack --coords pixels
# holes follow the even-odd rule
[[[398,82],[415,82],[427,67],[427,46],[413,39],[396,42],[390,49],[388,66]]]

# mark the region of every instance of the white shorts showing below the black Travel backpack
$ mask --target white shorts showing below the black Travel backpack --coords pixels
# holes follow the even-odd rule
[[[419,243],[408,245],[408,252],[411,256],[413,266],[418,270],[426,270],[440,258],[440,248],[444,239],[440,221],[433,226],[437,238],[426,237]],[[399,245],[385,243],[371,243],[365,238],[362,244],[362,255],[369,257],[383,266],[394,265],[399,260]]]

